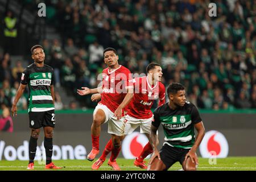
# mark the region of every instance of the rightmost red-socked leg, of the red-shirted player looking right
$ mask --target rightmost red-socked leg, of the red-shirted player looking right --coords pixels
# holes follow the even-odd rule
[[[145,133],[148,140],[150,140],[150,134],[147,134]],[[157,140],[156,140],[156,145],[158,145],[158,137],[157,137]],[[134,160],[134,166],[137,166],[137,167],[140,167],[142,169],[146,169],[147,166],[146,166],[146,162],[144,161],[144,159],[150,155],[151,153],[153,152],[153,148],[151,147],[151,144],[150,142],[148,142],[144,147],[143,147],[143,150],[141,152],[141,154],[138,156],[138,158],[136,158]]]

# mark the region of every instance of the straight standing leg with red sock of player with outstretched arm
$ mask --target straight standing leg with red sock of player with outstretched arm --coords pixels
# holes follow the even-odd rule
[[[119,155],[119,152],[121,151],[121,141],[123,140],[124,136],[117,136],[112,134],[112,143],[113,143],[113,148],[112,148],[112,153],[108,162],[108,165],[113,167],[115,171],[120,171],[121,169],[119,168],[117,164],[117,156]]]

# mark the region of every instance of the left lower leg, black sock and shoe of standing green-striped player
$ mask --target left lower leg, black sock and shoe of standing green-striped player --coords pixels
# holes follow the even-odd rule
[[[29,149],[29,162],[27,169],[34,169],[34,159],[36,154],[36,147],[38,146],[38,137],[39,137],[40,129],[31,129],[30,142],[28,144]]]

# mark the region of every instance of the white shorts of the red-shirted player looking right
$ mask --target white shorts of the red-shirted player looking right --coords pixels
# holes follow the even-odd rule
[[[140,127],[141,133],[150,134],[151,122],[154,117],[148,119],[133,118],[130,115],[125,116],[125,135],[133,133],[137,127]]]

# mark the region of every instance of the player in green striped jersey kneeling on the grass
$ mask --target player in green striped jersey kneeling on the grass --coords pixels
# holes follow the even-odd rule
[[[151,123],[151,146],[154,153],[148,170],[162,171],[179,162],[185,171],[195,171],[198,165],[196,150],[204,137],[204,125],[196,106],[186,101],[185,88],[172,83],[167,88],[169,102],[154,111]],[[156,131],[162,125],[163,147],[156,146]],[[195,137],[194,128],[197,130]]]

